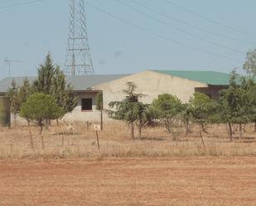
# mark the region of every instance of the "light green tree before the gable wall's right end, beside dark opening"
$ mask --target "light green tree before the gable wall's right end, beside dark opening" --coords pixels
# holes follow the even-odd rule
[[[190,99],[190,104],[193,122],[200,123],[202,131],[206,132],[205,123],[209,122],[211,114],[214,113],[215,101],[205,93],[194,93]]]

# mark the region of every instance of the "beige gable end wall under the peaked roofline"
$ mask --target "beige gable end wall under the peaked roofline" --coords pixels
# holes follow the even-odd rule
[[[140,99],[143,103],[152,103],[152,100],[162,93],[176,95],[182,102],[186,103],[191,98],[191,95],[195,93],[195,88],[205,88],[208,86],[200,82],[148,70],[105,84],[99,84],[94,86],[93,89],[103,91],[104,108],[109,108],[109,102],[119,101],[125,98],[122,89],[125,89],[125,84],[129,81],[138,86],[138,93],[146,94],[145,97]]]

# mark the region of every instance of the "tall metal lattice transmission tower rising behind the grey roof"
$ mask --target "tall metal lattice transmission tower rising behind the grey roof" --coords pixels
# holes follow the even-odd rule
[[[65,57],[65,73],[94,74],[89,50],[84,0],[70,0],[69,34]]]

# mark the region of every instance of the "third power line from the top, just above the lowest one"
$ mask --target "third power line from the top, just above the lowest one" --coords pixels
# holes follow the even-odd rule
[[[159,20],[159,19],[157,19],[157,18],[155,18],[155,17],[153,17],[153,16],[151,16],[151,15],[148,15],[146,12],[142,12],[142,10],[140,10],[140,9],[138,9],[138,8],[135,8],[135,7],[131,6],[131,5],[129,5],[128,3],[126,3],[126,2],[123,2],[122,0],[117,0],[117,1],[120,2],[120,3],[122,3],[123,5],[125,5],[125,6],[127,6],[127,7],[129,7],[129,8],[131,8],[131,9],[133,9],[134,11],[139,12],[139,13],[141,13],[142,15],[144,15],[144,16],[146,16],[146,17],[152,19],[153,21],[159,22],[159,23],[161,23],[161,24],[163,24],[163,25],[165,25],[165,26],[169,26],[169,27],[175,29],[176,31],[180,31],[180,32],[183,33],[183,34],[186,34],[187,36],[192,36],[192,37],[194,37],[194,38],[196,38],[196,39],[199,39],[199,40],[201,40],[201,41],[208,42],[208,43],[210,43],[210,44],[212,44],[212,45],[214,45],[214,46],[219,46],[219,47],[221,47],[221,48],[223,48],[223,49],[225,49],[225,50],[232,50],[232,51],[234,51],[234,52],[237,52],[237,53],[240,53],[240,54],[244,54],[243,51],[236,50],[236,49],[234,49],[234,48],[230,48],[229,46],[221,45],[221,44],[219,44],[218,42],[215,42],[215,41],[207,40],[207,39],[205,39],[204,37],[201,37],[201,36],[197,36],[197,35],[195,35],[195,34],[192,34],[192,33],[188,32],[188,31],[186,31],[186,30],[184,30],[184,29],[181,29],[180,27],[173,26],[173,25],[171,25],[171,24],[169,24],[169,23],[167,23],[167,22],[163,22],[162,20]]]

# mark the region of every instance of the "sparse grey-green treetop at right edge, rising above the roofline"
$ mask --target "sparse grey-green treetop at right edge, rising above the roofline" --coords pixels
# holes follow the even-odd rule
[[[256,49],[249,50],[249,52],[247,52],[243,69],[246,71],[247,74],[250,74],[254,77],[256,76]]]

